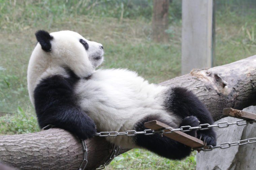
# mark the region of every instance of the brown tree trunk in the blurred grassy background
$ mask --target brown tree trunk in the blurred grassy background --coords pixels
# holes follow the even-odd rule
[[[168,42],[168,9],[169,0],[154,0],[153,2],[153,40],[155,42]]]

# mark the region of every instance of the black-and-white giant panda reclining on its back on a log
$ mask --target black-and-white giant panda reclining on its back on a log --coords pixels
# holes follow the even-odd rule
[[[212,124],[204,104],[189,90],[151,84],[127,69],[98,69],[103,46],[72,31],[39,30],[27,73],[28,91],[39,126],[54,125],[88,139],[98,131],[143,131],[161,121],[173,128]],[[216,145],[213,129],[186,132]],[[180,160],[191,148],[160,134],[108,136],[124,148],[146,148]]]

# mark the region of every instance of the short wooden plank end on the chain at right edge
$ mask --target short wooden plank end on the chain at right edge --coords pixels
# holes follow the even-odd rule
[[[226,116],[238,118],[238,119],[243,119],[243,120],[255,120],[256,119],[256,114],[250,113],[250,112],[245,112],[237,109],[223,109],[223,114]]]

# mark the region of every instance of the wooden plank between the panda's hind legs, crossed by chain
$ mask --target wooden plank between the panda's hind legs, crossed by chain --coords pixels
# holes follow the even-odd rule
[[[150,122],[146,122],[144,124],[144,126],[146,128],[149,128],[149,129],[152,129],[152,130],[158,130],[158,129],[163,129],[163,128],[170,128],[170,126],[162,123],[162,122],[159,122],[159,121],[156,121],[156,120],[153,120],[153,121],[150,121]],[[168,132],[170,131],[169,129],[163,129],[165,132]],[[174,132],[171,132],[171,133],[164,133],[163,134],[164,136],[168,137],[168,138],[171,138],[173,140],[176,140],[180,143],[183,143],[187,146],[190,146],[192,148],[195,148],[195,147],[203,147],[205,146],[204,145],[204,142],[202,140],[199,140],[193,136],[190,136],[184,132],[181,132],[181,131],[174,131]]]

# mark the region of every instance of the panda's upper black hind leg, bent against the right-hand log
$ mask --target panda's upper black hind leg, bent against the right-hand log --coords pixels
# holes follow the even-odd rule
[[[211,113],[205,105],[189,90],[182,87],[175,87],[169,90],[165,100],[165,107],[168,111],[178,115],[182,119],[188,116],[195,116],[200,124],[213,124]],[[211,128],[209,130],[198,130],[197,137],[205,141],[207,145],[216,145],[216,134]]]

